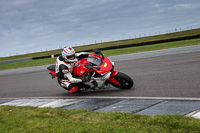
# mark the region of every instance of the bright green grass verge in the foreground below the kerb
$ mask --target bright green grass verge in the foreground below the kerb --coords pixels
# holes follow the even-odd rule
[[[0,132],[199,133],[200,120],[180,115],[143,116],[36,107],[0,106]]]

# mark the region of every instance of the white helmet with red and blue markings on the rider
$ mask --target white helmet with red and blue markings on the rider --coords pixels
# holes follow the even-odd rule
[[[62,57],[68,63],[73,63],[75,59],[75,50],[71,47],[64,47],[62,50]]]

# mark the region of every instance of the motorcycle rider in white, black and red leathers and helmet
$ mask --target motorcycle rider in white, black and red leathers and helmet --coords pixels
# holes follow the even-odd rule
[[[79,90],[78,83],[90,81],[90,76],[73,77],[73,67],[80,58],[88,57],[88,53],[76,53],[72,47],[64,47],[62,54],[56,59],[56,74],[61,86],[69,90],[70,93]]]

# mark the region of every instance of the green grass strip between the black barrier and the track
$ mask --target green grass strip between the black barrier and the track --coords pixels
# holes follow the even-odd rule
[[[130,48],[123,48],[123,49],[115,49],[115,50],[105,50],[102,52],[105,56],[112,56],[112,55],[159,50],[159,49],[173,48],[173,47],[180,47],[180,46],[189,46],[189,45],[195,45],[195,44],[200,44],[200,39],[191,39],[191,40],[185,40],[185,41],[160,43],[160,44],[154,44],[154,45],[130,47]],[[56,60],[56,58],[46,58],[46,59],[31,60],[31,61],[25,61],[25,62],[2,64],[2,65],[0,65],[0,70],[8,70],[8,69],[16,69],[16,68],[22,68],[22,67],[53,64],[53,63],[55,63],[55,60]]]

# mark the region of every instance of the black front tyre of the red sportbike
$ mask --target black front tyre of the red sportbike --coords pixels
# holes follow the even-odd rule
[[[133,80],[126,74],[118,72],[118,74],[114,77],[120,84],[115,85],[115,87],[120,89],[131,89],[134,85]]]

